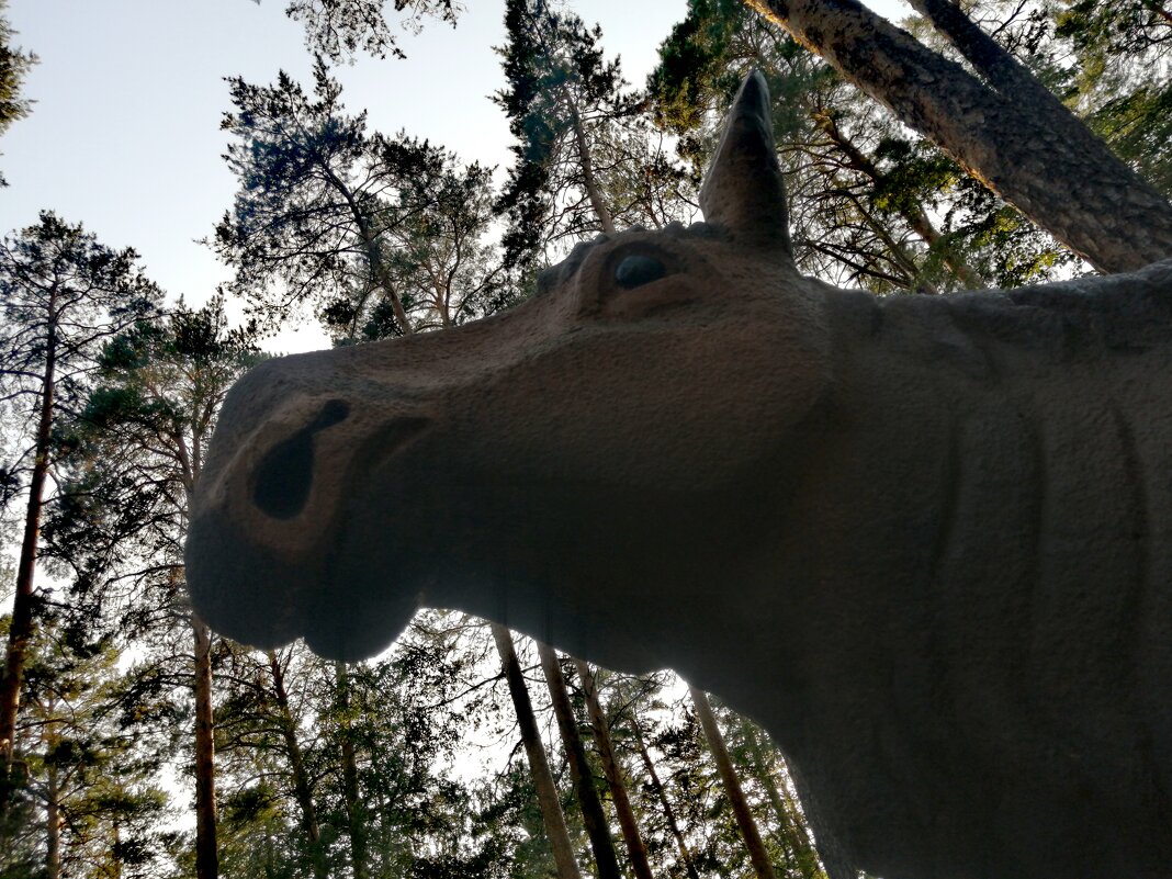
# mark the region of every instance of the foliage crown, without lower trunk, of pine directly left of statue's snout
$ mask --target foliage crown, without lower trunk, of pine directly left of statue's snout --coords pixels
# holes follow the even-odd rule
[[[260,360],[254,336],[227,326],[219,297],[139,319],[107,341],[62,424],[68,478],[46,550],[75,600],[121,609],[124,635],[177,622],[188,498],[224,396]]]

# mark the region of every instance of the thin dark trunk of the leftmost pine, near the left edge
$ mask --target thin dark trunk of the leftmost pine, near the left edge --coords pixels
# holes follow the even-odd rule
[[[56,300],[49,294],[49,322],[45,340],[45,375],[41,379],[41,411],[36,423],[36,449],[33,475],[28,481],[28,507],[25,511],[25,533],[16,565],[16,594],[12,602],[12,624],[8,627],[8,650],[5,656],[4,681],[0,684],[0,815],[7,809],[16,779],[13,761],[16,756],[16,713],[20,709],[20,688],[25,679],[25,657],[33,636],[33,577],[36,573],[36,550],[41,534],[45,481],[49,472],[49,438],[53,431],[53,406],[56,391]]]

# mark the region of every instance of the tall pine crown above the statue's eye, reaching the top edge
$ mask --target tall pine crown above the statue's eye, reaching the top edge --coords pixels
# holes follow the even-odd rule
[[[505,29],[507,87],[493,97],[516,138],[496,204],[505,265],[548,264],[608,223],[683,219],[693,180],[649,130],[645,97],[606,60],[601,29],[540,0],[510,0]]]

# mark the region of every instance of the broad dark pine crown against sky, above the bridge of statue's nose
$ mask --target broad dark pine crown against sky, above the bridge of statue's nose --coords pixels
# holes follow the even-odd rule
[[[240,188],[212,245],[267,327],[311,302],[339,342],[354,342],[406,332],[404,315],[452,326],[510,300],[481,240],[490,169],[368,132],[320,57],[312,95],[284,71],[272,86],[229,82],[225,158]]]

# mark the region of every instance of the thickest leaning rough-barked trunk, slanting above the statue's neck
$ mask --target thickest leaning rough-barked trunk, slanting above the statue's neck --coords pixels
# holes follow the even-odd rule
[[[858,0],[745,2],[1099,271],[1172,257],[1172,204],[1081,123],[1035,115]]]

